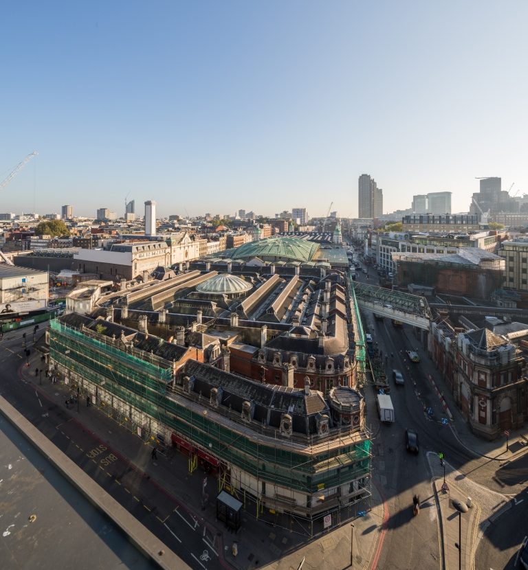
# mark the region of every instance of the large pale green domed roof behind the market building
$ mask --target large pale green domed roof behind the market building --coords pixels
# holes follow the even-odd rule
[[[268,238],[249,242],[234,249],[230,256],[236,259],[261,258],[265,261],[311,261],[319,244],[300,238]]]

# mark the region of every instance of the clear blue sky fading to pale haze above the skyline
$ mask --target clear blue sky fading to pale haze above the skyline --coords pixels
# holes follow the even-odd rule
[[[528,3],[5,0],[0,212],[384,212],[528,193]]]

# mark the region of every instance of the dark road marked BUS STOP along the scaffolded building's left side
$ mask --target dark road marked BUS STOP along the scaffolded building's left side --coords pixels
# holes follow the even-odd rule
[[[36,379],[24,380],[24,363],[21,332],[4,335],[0,343],[3,398],[190,567],[221,568],[214,531],[186,505],[134,468],[120,451],[85,429],[76,419],[77,407],[65,409],[63,394],[56,391],[50,398],[49,391],[40,389]],[[49,384],[49,380],[45,382]]]

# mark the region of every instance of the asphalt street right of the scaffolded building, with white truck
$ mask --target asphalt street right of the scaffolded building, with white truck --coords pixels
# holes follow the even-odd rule
[[[369,268],[369,279],[359,271],[357,279],[372,284],[377,281],[374,275],[375,270]],[[378,457],[374,460],[373,475],[382,483],[390,514],[378,567],[439,568],[436,513],[428,507],[426,517],[422,516],[426,514],[422,511],[418,517],[412,518],[410,510],[412,494],[419,492],[422,500],[431,494],[431,475],[425,453],[441,451],[465,477],[490,490],[518,497],[527,486],[528,455],[507,462],[478,457],[467,451],[450,426],[442,422],[447,416],[428,380],[430,367],[434,364],[428,358],[422,358],[420,363],[411,363],[406,355],[406,350],[418,344],[412,328],[394,328],[389,319],[375,321],[369,311],[364,311],[364,321],[365,332],[371,332],[384,358],[387,356],[386,372],[391,381],[391,398],[395,407],[394,424],[382,425],[375,440],[375,455],[377,453]],[[392,382],[393,368],[404,374],[406,382],[403,387]],[[418,457],[406,453],[404,431],[407,427],[419,433],[421,450]],[[511,564],[518,547],[527,534],[522,512],[520,508],[512,509],[499,518],[496,525],[490,525],[478,548],[476,568],[498,570],[513,567]]]

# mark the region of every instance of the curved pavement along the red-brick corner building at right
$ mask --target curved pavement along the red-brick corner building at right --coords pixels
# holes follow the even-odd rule
[[[467,451],[470,451],[475,455],[485,457],[486,459],[495,459],[497,461],[509,461],[513,457],[518,457],[518,455],[528,452],[528,425],[525,425],[518,430],[510,430],[508,450],[506,449],[506,438],[504,436],[490,442],[474,435],[469,424],[459,410],[459,407],[454,400],[454,396],[451,394],[451,389],[445,382],[443,375],[439,372],[437,367],[434,366],[432,361],[430,361],[427,350],[419,345],[417,339],[410,337],[407,332],[406,336],[412,346],[417,348],[420,358],[423,361],[430,362],[432,364],[428,373],[432,376],[434,384],[437,386],[437,389],[441,394],[441,399],[445,402],[449,411],[448,415],[452,417],[449,424],[450,429],[456,439],[459,440],[460,444],[465,447]]]

